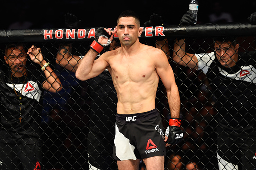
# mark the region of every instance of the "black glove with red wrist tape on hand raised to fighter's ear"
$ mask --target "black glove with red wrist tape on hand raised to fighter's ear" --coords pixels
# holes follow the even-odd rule
[[[108,39],[106,44],[101,44],[98,42],[100,36]],[[91,49],[93,49],[97,53],[100,53],[105,46],[108,46],[111,43],[111,41],[109,40],[110,37],[111,37],[111,35],[109,35],[109,33],[107,33],[104,30],[104,27],[98,28],[95,33],[95,39],[94,39],[93,43],[91,43],[91,46],[90,46]]]

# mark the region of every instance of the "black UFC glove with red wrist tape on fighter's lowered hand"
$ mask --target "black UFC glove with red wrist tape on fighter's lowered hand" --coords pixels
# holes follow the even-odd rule
[[[168,136],[167,143],[175,145],[182,141],[183,131],[181,130],[181,119],[171,118],[169,121],[169,127],[165,131],[165,136]]]

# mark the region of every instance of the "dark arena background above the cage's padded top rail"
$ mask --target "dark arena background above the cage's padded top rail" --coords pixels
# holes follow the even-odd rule
[[[158,13],[166,25],[176,25],[188,10],[190,0],[2,0],[0,29],[9,29],[17,21],[32,25],[26,29],[64,28],[64,14],[75,14],[82,20],[81,27],[116,26],[118,15],[124,10],[133,10],[140,16],[141,25],[150,15]],[[209,23],[216,0],[198,0],[198,22]],[[256,12],[255,0],[222,0],[221,11],[231,14],[234,22],[247,22],[251,13]],[[21,28],[21,27],[19,27]],[[17,27],[15,29],[18,29]]]

